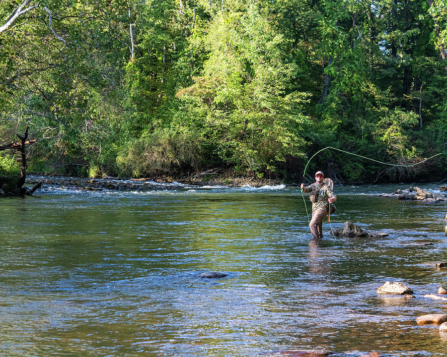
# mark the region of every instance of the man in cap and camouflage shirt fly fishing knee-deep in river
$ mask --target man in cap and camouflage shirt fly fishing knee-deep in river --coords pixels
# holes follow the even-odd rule
[[[310,232],[316,239],[323,238],[323,218],[329,212],[331,203],[337,200],[337,196],[333,192],[333,182],[331,179],[324,179],[321,171],[315,173],[315,182],[306,186],[301,183],[301,191],[310,192],[309,198],[312,202],[312,219],[309,223]]]

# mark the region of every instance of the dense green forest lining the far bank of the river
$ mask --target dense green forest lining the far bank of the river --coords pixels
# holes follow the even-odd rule
[[[83,177],[294,180],[330,146],[308,170],[443,180],[446,25],[447,0],[2,0],[0,145],[28,126],[30,172]]]

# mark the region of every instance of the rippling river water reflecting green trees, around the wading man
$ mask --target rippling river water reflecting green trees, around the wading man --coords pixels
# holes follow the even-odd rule
[[[415,319],[447,312],[424,297],[447,285],[433,267],[447,203],[374,196],[408,187],[335,187],[321,241],[284,185],[0,198],[0,356],[445,356],[447,337]],[[331,236],[345,221],[389,236]],[[197,277],[210,270],[227,276]],[[385,281],[415,298],[378,295]]]

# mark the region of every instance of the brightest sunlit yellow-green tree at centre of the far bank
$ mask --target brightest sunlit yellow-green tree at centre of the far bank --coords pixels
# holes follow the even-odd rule
[[[196,107],[207,137],[226,162],[249,172],[274,170],[302,156],[307,94],[294,90],[290,41],[263,2],[220,11],[205,43],[208,59],[195,84],[178,97]]]

